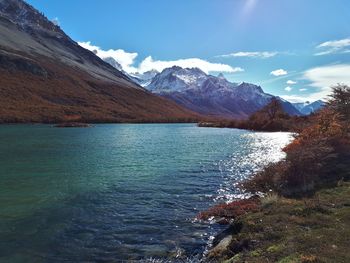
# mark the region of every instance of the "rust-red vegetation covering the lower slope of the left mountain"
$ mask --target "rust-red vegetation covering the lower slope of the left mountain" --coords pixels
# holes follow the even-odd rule
[[[48,57],[20,55],[26,58],[14,60],[0,54],[0,123],[190,122],[202,118],[126,81],[109,82]]]

